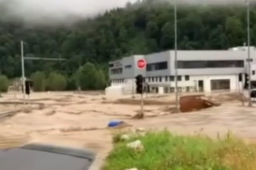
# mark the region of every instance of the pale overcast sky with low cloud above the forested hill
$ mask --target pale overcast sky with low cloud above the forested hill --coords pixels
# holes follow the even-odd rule
[[[7,5],[8,16],[19,16],[28,22],[65,21],[67,16],[92,17],[114,7],[123,7],[136,0],[0,0]],[[161,1],[161,0],[159,0]],[[169,0],[173,1],[173,0]],[[177,0],[179,1],[179,0]],[[184,0],[181,0],[184,1]],[[244,0],[185,0],[188,2],[235,2]],[[256,1],[256,0],[252,0]],[[3,13],[1,13],[3,15]],[[7,16],[4,16],[7,18]],[[70,20],[70,19],[69,19]]]

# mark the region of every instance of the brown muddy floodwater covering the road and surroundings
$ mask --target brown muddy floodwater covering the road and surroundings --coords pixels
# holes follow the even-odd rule
[[[9,101],[11,97],[7,94],[0,101]],[[243,108],[235,101],[180,114],[168,114],[170,105],[146,105],[146,119],[132,120],[140,110],[139,105],[106,101],[103,95],[54,92],[33,93],[31,98],[46,107],[30,113],[20,112],[1,122],[0,147],[47,143],[87,148],[98,154],[96,161],[100,165],[112,148],[111,131],[106,129],[110,120],[123,120],[137,128],[168,128],[175,134],[201,133],[216,137],[217,133],[224,135],[231,130],[238,136],[256,139],[255,108]],[[157,100],[173,98],[165,96]]]

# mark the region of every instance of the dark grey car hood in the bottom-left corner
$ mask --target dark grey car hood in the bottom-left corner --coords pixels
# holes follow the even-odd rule
[[[88,170],[95,159],[91,151],[53,145],[29,144],[0,150],[1,170]]]

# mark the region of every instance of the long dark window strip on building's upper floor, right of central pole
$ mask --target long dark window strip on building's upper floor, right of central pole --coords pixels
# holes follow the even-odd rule
[[[244,67],[243,60],[178,61],[178,68],[234,68]]]

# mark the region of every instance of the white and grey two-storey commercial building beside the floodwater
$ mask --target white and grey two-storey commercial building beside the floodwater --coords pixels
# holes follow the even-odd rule
[[[247,73],[247,50],[178,50],[178,91],[211,92],[213,90],[239,90],[244,86]],[[147,67],[140,70],[137,61],[144,58]],[[251,50],[252,69],[256,71],[256,50]],[[149,92],[175,92],[174,51],[149,55],[133,55],[109,63],[111,86],[123,86],[124,93],[133,93],[135,77],[143,75]],[[252,70],[252,77],[253,74]],[[254,78],[254,77],[253,77]],[[255,75],[256,80],[256,75]]]

